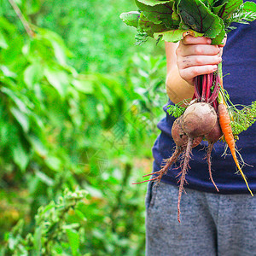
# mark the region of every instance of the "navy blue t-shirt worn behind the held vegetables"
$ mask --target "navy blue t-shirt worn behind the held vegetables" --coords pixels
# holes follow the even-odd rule
[[[228,34],[227,44],[223,54],[224,88],[229,92],[234,104],[249,105],[256,101],[256,21],[250,25],[236,24],[237,29]],[[168,102],[172,104],[172,102]],[[166,111],[166,106],[164,110]],[[175,143],[172,140],[172,124],[174,118],[166,113],[166,118],[161,119],[158,128],[161,133],[154,143],[154,172],[160,170],[163,160],[169,158],[174,152]],[[249,187],[256,194],[256,123],[243,131],[236,147],[247,164],[242,170],[247,176]],[[212,151],[212,177],[222,194],[248,193],[246,183],[240,174],[237,174],[235,162],[230,156],[224,154],[224,143],[216,143]],[[209,179],[206,157],[207,142],[193,148],[192,158],[189,161],[189,172],[186,176],[188,184],[185,188],[197,189],[216,193]],[[162,182],[177,186],[177,174],[181,171],[177,165],[162,177]]]

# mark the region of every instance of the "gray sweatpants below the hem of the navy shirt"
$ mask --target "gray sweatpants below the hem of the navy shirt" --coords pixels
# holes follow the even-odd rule
[[[178,187],[148,183],[147,256],[256,255],[256,198],[185,189],[181,224]]]

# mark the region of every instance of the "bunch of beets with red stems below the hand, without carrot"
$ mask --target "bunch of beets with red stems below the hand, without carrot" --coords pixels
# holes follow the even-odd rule
[[[192,148],[195,148],[201,143],[203,138],[208,142],[207,148],[207,163],[209,175],[214,187],[216,184],[212,179],[211,172],[211,153],[213,144],[218,142],[223,132],[219,125],[218,113],[226,109],[223,104],[218,104],[217,98],[220,90],[220,78],[218,73],[210,73],[201,75],[195,78],[195,93],[188,108],[186,108],[183,115],[177,118],[172,125],[172,138],[176,143],[176,148],[172,156],[165,160],[165,166],[159,172],[149,173],[149,175],[157,175],[148,181],[160,182],[161,177],[168,172],[168,169],[174,164],[179,156],[182,157],[182,171],[179,176],[179,192],[177,200],[177,220],[180,222],[180,201],[183,193],[183,185],[185,183],[185,176],[188,172],[189,159]]]

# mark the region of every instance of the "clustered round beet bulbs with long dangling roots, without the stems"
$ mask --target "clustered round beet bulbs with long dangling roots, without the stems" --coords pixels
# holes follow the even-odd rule
[[[221,137],[221,131],[219,130],[217,113],[212,106],[207,102],[195,102],[186,108],[182,116],[177,118],[172,125],[172,138],[176,143],[176,148],[172,156],[165,160],[165,165],[162,166],[160,171],[149,173],[143,177],[149,175],[157,175],[149,180],[145,180],[140,183],[148,181],[160,182],[163,175],[165,175],[169,168],[174,164],[180,154],[183,154],[183,161],[181,163],[182,171],[180,172],[179,179],[179,191],[177,199],[177,220],[180,222],[180,201],[183,193],[183,186],[185,183],[185,177],[189,168],[189,159],[192,148],[199,145],[203,137],[207,137],[209,142],[207,161],[209,164],[209,174],[213,185],[218,190],[216,184],[212,179],[211,172],[211,152],[213,144]],[[137,183],[135,183],[137,184]]]

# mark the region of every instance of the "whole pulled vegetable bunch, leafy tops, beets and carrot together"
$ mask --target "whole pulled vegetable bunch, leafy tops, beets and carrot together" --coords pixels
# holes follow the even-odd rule
[[[120,18],[128,26],[137,28],[137,44],[144,43],[148,37],[176,43],[185,36],[192,35],[211,38],[212,44],[218,45],[222,44],[226,33],[236,29],[234,22],[247,24],[256,19],[256,3],[243,3],[242,0],[135,0],[135,2],[139,10],[123,13]],[[217,191],[218,187],[212,178],[211,152],[213,144],[222,139],[230,148],[241,177],[253,195],[236,157],[236,136],[255,122],[256,103],[243,106],[241,110],[236,108],[230,101],[229,94],[224,90],[221,63],[218,65],[218,71],[196,77],[194,85],[194,96],[190,103],[189,100],[185,101],[187,102],[185,108],[183,102],[168,106],[167,112],[177,118],[172,126],[176,149],[172,156],[165,160],[160,171],[148,174],[154,174],[154,177],[148,181],[160,182],[163,175],[182,155],[177,200],[179,222],[180,201],[190,154],[192,148],[201,143],[203,138],[208,142],[209,176]]]

